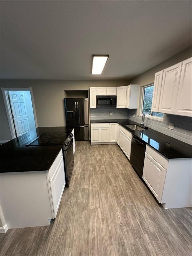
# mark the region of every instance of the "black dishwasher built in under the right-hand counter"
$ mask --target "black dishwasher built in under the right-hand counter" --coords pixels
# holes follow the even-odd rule
[[[146,143],[135,135],[132,135],[130,163],[141,178],[143,176],[145,148]]]

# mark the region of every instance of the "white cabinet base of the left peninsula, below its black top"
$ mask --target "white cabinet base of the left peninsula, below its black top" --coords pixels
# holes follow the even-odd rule
[[[65,188],[62,149],[48,171],[0,173],[0,185],[8,229],[49,225]]]

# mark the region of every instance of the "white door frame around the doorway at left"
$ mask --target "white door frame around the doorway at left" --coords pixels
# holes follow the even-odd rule
[[[14,128],[13,119],[11,117],[11,108],[10,108],[10,105],[9,105],[8,95],[7,95],[6,91],[30,91],[32,107],[33,107],[33,114],[34,114],[34,119],[35,119],[35,127],[37,128],[38,124],[37,124],[37,116],[36,116],[35,102],[34,102],[34,98],[33,98],[33,89],[32,89],[32,87],[27,87],[27,88],[1,87],[1,91],[2,91],[2,95],[3,95],[3,100],[4,100],[4,104],[5,104],[5,110],[6,110],[6,113],[7,113],[8,122],[9,122],[11,138],[15,139],[16,135],[15,135],[15,128]]]

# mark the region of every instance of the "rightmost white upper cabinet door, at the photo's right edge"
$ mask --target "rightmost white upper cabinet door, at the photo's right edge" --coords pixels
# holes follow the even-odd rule
[[[191,69],[192,69],[192,58],[184,60],[182,64],[181,79],[180,79],[179,90],[177,95],[177,102],[176,102],[176,109],[175,109],[176,115],[192,116]]]

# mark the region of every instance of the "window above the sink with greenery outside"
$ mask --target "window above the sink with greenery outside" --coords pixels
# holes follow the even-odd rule
[[[163,113],[151,112],[153,89],[154,89],[154,84],[149,85],[149,86],[144,86],[142,88],[143,101],[142,101],[141,114],[163,118]]]

